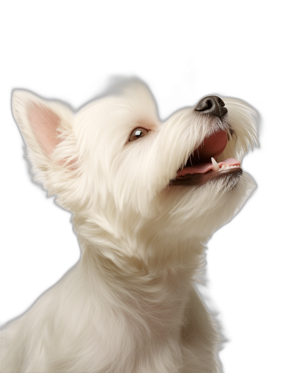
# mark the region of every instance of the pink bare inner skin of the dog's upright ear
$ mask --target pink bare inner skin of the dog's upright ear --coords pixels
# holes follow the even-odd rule
[[[32,104],[29,110],[29,121],[34,134],[46,153],[50,155],[59,144],[57,128],[60,118],[47,107]]]

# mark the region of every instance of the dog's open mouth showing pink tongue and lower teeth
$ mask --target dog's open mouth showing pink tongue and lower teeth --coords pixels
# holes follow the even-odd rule
[[[187,163],[177,172],[177,177],[171,185],[202,184],[211,178],[225,174],[242,172],[240,162],[234,158],[224,159],[217,163],[216,159],[227,146],[227,133],[218,131],[205,138],[199,148],[195,149]]]

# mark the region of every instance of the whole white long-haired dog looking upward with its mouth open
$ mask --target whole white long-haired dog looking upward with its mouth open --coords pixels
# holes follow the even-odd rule
[[[161,122],[137,78],[77,113],[25,90],[12,110],[35,180],[73,214],[81,259],[4,327],[2,372],[221,372],[223,339],[194,284],[203,243],[255,188],[240,167],[258,145],[255,110],[207,96]]]

